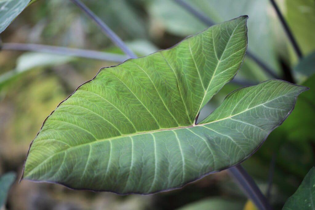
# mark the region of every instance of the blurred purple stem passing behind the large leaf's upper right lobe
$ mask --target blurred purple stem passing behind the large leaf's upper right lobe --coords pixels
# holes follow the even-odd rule
[[[184,2],[183,0],[173,0],[174,2],[178,3],[181,7],[185,8],[188,12],[195,15],[199,20],[201,20],[204,24],[208,26],[214,25],[214,22],[202,12],[196,10],[192,7],[192,5]],[[247,50],[246,53],[252,60],[254,60],[267,74],[272,76],[273,78],[279,79],[279,77],[274,73],[274,71],[266,65],[262,60],[257,58],[251,51]]]

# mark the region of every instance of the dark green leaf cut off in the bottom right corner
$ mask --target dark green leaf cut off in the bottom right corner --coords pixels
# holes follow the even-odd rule
[[[288,198],[282,210],[315,209],[315,168],[304,177],[296,192]]]

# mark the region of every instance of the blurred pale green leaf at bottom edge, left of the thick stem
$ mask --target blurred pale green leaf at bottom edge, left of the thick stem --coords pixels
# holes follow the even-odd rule
[[[223,198],[209,198],[190,203],[177,210],[241,210],[244,206],[242,201],[233,201]]]

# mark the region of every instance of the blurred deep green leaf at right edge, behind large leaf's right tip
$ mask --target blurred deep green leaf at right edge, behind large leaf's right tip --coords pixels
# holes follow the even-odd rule
[[[315,140],[313,119],[313,116],[315,116],[315,74],[303,82],[302,85],[310,89],[300,95],[292,114],[277,129],[287,139],[293,141]]]

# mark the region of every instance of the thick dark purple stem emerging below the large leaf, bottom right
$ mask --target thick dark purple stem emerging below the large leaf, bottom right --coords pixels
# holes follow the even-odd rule
[[[241,165],[228,169],[230,175],[237,181],[239,187],[246,196],[253,201],[255,206],[260,210],[271,210],[266,197],[261,193],[255,181],[249,176]]]

